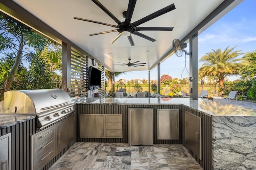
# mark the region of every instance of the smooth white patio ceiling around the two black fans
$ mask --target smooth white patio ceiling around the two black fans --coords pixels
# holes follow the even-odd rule
[[[127,10],[129,0],[99,0],[120,21],[125,19],[122,12]],[[172,3],[176,9],[162,16],[147,21],[139,26],[174,27],[173,31],[140,31],[154,39],[148,41],[132,34],[134,46],[127,37],[110,41],[118,32],[89,36],[88,34],[110,31],[114,27],[74,20],[73,17],[85,18],[117,25],[104,11],[91,0],[14,0],[28,12],[50,25],[70,41],[84,49],[107,68],[118,71],[149,70],[172,49],[173,39],[183,39],[196,25],[208,16],[224,0],[138,0],[132,15],[132,22],[156,12]],[[145,66],[128,67],[115,65],[140,61]]]

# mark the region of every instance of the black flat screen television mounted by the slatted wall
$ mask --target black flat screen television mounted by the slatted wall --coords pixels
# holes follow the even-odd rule
[[[100,89],[101,87],[101,71],[92,66],[89,67],[88,88],[90,90]]]

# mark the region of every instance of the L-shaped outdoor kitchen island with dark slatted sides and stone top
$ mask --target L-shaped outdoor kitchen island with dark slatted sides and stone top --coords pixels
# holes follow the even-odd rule
[[[75,105],[78,115],[122,115],[122,138],[79,138],[78,142],[128,143],[128,108],[153,109],[153,144],[182,144],[206,169],[256,169],[256,110],[210,100],[188,98],[85,98]],[[179,110],[179,139],[158,139],[158,109]],[[186,115],[201,118],[193,135],[200,150],[186,140]],[[79,116],[77,116],[79,119]],[[77,120],[79,122],[79,120]],[[194,123],[197,126],[198,123]],[[188,126],[188,125],[187,125]],[[201,133],[201,134],[200,134]],[[188,134],[187,134],[188,136]],[[201,159],[200,159],[201,157]]]

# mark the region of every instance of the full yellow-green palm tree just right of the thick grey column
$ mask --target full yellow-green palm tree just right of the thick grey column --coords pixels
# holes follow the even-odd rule
[[[221,49],[213,49],[199,60],[203,62],[199,72],[202,73],[202,76],[215,76],[218,79],[220,89],[224,87],[226,76],[238,74],[241,59],[237,57],[242,53],[241,50],[233,51],[235,47],[228,49],[228,46],[223,52]]]

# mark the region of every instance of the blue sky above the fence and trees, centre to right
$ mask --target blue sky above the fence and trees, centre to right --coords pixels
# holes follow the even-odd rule
[[[256,0],[244,0],[232,11],[216,21],[208,29],[198,36],[198,59],[212,49],[226,49],[237,46],[234,50],[242,50],[243,53],[256,51]],[[188,49],[187,49],[188,50]],[[242,57],[242,56],[241,56]],[[177,64],[178,63],[178,64]],[[198,68],[202,63],[198,62]],[[169,74],[173,78],[189,77],[185,67],[185,56],[172,55],[161,64],[161,75]],[[186,68],[189,70],[189,57],[186,56]],[[182,75],[181,75],[182,74]],[[148,71],[128,72],[115,78],[119,79],[148,79]],[[236,80],[239,77],[228,77]],[[157,68],[150,72],[150,79],[157,79]]]

